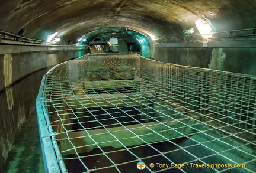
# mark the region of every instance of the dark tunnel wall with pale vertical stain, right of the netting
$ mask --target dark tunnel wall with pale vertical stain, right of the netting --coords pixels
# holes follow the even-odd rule
[[[184,66],[256,75],[256,47],[171,47],[154,45],[152,58]]]

